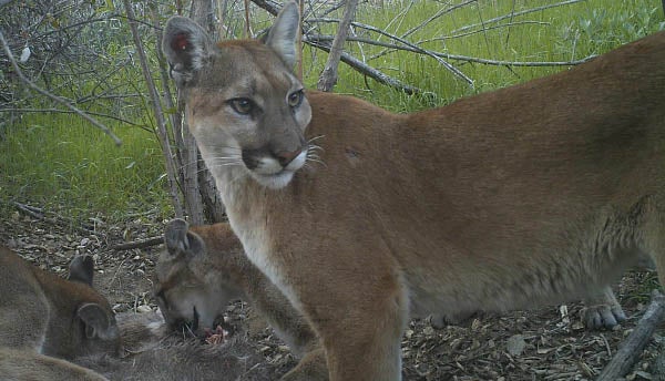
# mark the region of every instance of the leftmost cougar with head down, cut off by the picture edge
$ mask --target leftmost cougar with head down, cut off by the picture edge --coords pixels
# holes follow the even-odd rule
[[[73,272],[82,271],[74,267]],[[0,347],[71,359],[114,354],[119,346],[111,306],[92,287],[43,271],[0,247]]]

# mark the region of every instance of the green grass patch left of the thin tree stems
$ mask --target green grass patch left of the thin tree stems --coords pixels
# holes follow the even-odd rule
[[[27,115],[0,141],[0,200],[122,219],[157,208],[171,214],[163,156],[151,132],[116,127],[117,147],[74,115]]]

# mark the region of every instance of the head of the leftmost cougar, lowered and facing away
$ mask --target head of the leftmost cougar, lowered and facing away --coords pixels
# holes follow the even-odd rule
[[[69,280],[79,285],[82,296],[74,313],[79,329],[71,331],[75,356],[117,354],[121,347],[115,315],[109,301],[92,288],[94,264],[91,256],[76,256],[70,264]]]

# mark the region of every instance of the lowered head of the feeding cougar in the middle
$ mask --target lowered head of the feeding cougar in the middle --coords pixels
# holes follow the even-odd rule
[[[198,228],[197,234],[195,229]],[[171,328],[214,329],[231,300],[244,297],[243,248],[227,224],[194,227],[174,219],[155,266],[154,296]]]

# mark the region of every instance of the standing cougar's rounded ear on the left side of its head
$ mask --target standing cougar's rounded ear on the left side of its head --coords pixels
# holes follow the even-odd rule
[[[168,19],[162,38],[162,51],[168,61],[170,75],[177,86],[185,86],[211,56],[214,44],[203,28],[184,17]]]

